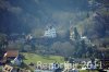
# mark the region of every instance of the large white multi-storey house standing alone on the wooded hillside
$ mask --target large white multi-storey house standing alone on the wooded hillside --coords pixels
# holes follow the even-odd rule
[[[44,37],[55,38],[57,37],[56,28],[50,26],[45,31]]]

